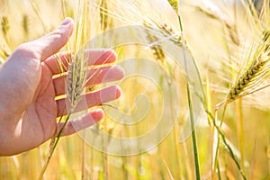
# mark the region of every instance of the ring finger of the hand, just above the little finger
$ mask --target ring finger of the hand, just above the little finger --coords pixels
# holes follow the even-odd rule
[[[86,110],[102,103],[111,102],[121,95],[121,89],[117,85],[105,87],[98,91],[93,91],[82,95],[82,100],[77,104],[75,112]],[[67,115],[67,107],[69,106],[67,98],[57,100],[58,117]],[[86,103],[86,104],[85,104]]]

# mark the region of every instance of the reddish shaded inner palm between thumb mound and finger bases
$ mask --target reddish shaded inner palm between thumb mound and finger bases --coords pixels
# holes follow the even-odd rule
[[[57,103],[52,73],[46,64],[41,66],[42,75],[31,105],[23,114],[22,141],[31,141],[33,148],[51,138],[57,128]]]

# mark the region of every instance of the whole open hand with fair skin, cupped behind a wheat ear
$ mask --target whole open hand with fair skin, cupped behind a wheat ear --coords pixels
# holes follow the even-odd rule
[[[0,66],[0,156],[36,148],[63,126],[57,118],[67,113],[65,99],[56,100],[55,97],[65,94],[66,76],[54,76],[60,72],[57,58],[53,55],[67,43],[73,29],[73,20],[67,18],[57,30],[20,45]],[[85,53],[91,54],[89,65],[103,65],[116,59],[115,52],[110,49],[88,49]],[[58,57],[67,65],[67,52],[58,54]],[[119,80],[123,76],[121,67],[117,66],[99,67],[87,73],[89,82],[92,82],[87,85]],[[109,78],[103,78],[106,75]],[[91,108],[115,100],[120,95],[118,86],[109,86],[85,94],[85,100],[87,107]],[[77,111],[83,109],[82,105],[78,106]],[[73,125],[81,130],[102,118],[100,109],[88,112],[68,121],[62,135],[75,133],[77,129]]]

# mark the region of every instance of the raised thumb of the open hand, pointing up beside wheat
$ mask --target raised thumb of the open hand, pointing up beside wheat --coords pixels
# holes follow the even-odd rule
[[[74,22],[71,18],[66,18],[63,23],[55,31],[41,37],[38,40],[30,42],[32,48],[35,49],[40,61],[46,60],[53,54],[57,53],[67,43],[72,34]]]

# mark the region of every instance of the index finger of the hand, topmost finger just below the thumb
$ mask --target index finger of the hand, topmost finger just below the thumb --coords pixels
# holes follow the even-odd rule
[[[70,56],[70,53],[62,52],[56,56],[49,57],[44,63],[49,67],[53,75],[58,75],[62,73],[58,60],[62,63],[64,70],[67,71],[68,62],[70,62],[68,56]],[[85,58],[88,59],[86,66],[103,65],[114,62],[116,60],[116,53],[112,49],[85,49]]]

